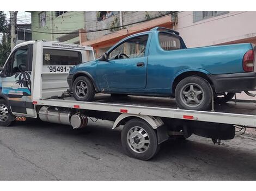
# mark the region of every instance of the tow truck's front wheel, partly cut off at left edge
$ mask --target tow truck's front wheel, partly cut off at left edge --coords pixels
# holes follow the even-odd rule
[[[4,99],[0,99],[0,126],[10,126],[11,120],[10,107]]]

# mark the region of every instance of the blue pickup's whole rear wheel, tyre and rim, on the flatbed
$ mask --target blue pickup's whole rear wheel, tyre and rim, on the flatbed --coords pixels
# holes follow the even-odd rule
[[[211,87],[200,77],[187,77],[179,82],[175,90],[178,107],[185,110],[208,110],[211,104]]]

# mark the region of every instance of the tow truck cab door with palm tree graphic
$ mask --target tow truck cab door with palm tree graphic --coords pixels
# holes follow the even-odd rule
[[[13,113],[29,114],[34,110],[31,98],[33,44],[16,48],[1,72],[2,94]]]

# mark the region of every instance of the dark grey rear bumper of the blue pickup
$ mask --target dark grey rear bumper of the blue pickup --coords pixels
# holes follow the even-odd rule
[[[209,75],[215,93],[256,90],[256,73],[236,73]]]

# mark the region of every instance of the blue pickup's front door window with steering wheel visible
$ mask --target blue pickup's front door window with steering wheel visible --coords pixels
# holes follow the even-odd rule
[[[121,43],[108,54],[109,59],[130,59],[145,56],[148,37],[148,35],[136,36]]]

